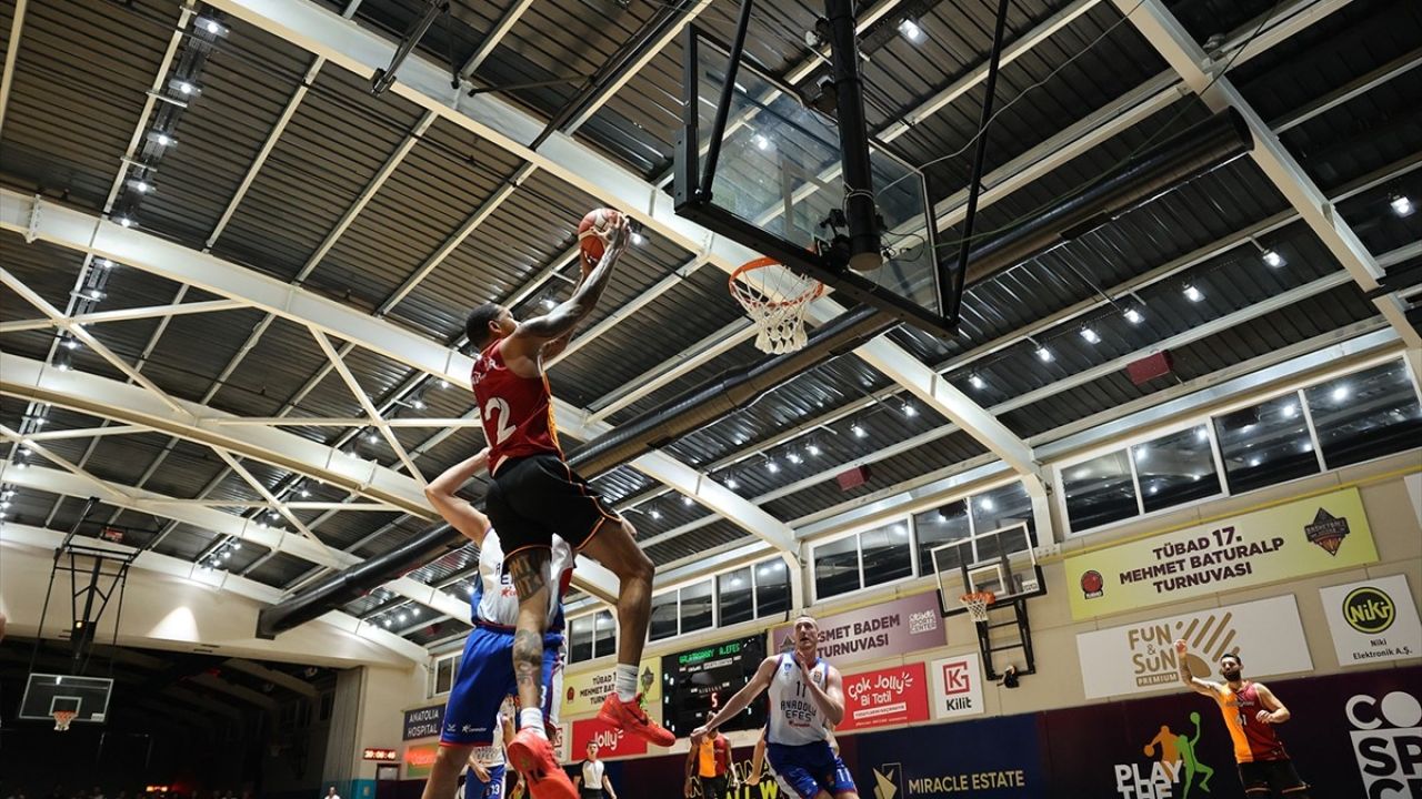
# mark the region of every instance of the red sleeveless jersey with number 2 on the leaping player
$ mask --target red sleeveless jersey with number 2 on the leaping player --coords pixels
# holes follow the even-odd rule
[[[474,360],[474,398],[479,402],[483,436],[489,442],[489,473],[510,458],[552,452],[559,458],[557,428],[547,377],[519,377],[503,363],[503,340]]]

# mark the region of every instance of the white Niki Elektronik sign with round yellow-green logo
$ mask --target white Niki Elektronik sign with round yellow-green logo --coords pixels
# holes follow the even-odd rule
[[[1406,574],[1318,589],[1338,665],[1422,657],[1422,623]]]

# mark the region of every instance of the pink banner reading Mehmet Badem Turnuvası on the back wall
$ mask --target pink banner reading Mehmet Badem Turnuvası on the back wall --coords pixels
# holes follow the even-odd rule
[[[792,644],[793,634],[793,623],[771,630],[771,651]],[[819,618],[819,657],[836,667],[930,650],[944,643],[937,591]]]

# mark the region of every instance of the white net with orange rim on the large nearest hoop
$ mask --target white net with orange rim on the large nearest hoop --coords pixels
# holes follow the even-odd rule
[[[805,345],[805,314],[825,284],[772,259],[757,259],[731,274],[731,296],[755,323],[755,348],[779,355]]]

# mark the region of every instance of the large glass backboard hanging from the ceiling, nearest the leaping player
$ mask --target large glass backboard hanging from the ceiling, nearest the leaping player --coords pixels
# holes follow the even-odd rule
[[[688,26],[677,213],[936,336],[954,333],[954,280],[934,256],[933,206],[919,169],[870,141],[883,263],[855,272],[845,252],[845,183],[833,117],[802,104],[731,47]],[[717,125],[718,105],[727,104]]]

